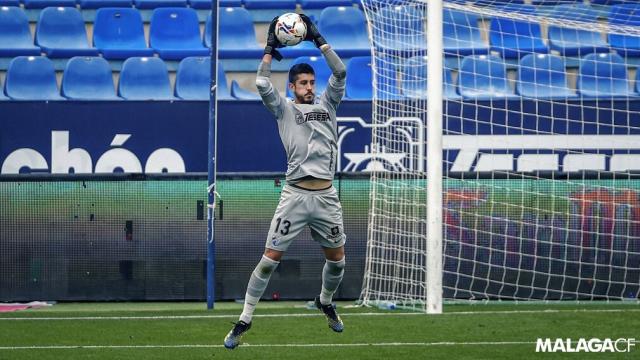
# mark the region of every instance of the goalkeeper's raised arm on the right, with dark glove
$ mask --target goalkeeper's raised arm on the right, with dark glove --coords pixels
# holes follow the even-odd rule
[[[324,92],[324,97],[336,107],[342,97],[344,96],[344,88],[347,79],[347,70],[338,54],[336,54],[331,46],[327,43],[324,37],[318,31],[316,25],[305,14],[300,14],[302,21],[307,26],[307,36],[304,38],[307,41],[312,41],[318,49],[322,52],[327,65],[331,69],[331,77],[329,78],[329,86]]]

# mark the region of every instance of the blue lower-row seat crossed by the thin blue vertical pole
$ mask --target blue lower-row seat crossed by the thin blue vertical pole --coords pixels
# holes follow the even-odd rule
[[[211,84],[211,58],[188,57],[180,61],[176,73],[175,95],[183,100],[209,100],[209,86]],[[229,100],[229,88],[224,70],[218,64],[218,92],[219,100]]]

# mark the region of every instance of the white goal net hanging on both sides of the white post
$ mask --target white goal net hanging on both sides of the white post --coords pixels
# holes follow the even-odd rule
[[[376,164],[360,300],[637,301],[640,5],[444,1],[443,176],[428,178],[430,1],[363,1]],[[431,181],[442,226],[427,226]]]

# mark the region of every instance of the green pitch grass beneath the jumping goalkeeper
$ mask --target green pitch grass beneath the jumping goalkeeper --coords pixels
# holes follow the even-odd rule
[[[618,354],[535,352],[539,337],[640,339],[637,303],[445,305],[429,316],[350,305],[338,303],[345,331],[336,334],[305,303],[262,302],[245,346],[227,350],[240,304],[57,304],[0,314],[0,359],[640,358],[640,344]]]

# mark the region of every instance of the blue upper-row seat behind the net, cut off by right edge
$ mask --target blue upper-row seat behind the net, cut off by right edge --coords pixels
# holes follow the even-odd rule
[[[622,4],[611,7],[609,23],[612,25],[640,26],[640,4]],[[640,56],[640,36],[609,34],[609,44],[624,57]]]

